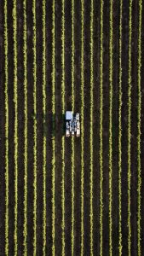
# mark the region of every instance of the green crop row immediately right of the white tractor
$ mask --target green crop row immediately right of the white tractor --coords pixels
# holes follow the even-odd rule
[[[81,0],[81,256],[84,255],[84,0]]]

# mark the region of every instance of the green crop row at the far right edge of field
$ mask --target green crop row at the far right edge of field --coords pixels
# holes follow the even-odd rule
[[[139,1],[139,37],[138,37],[138,121],[137,121],[137,247],[138,256],[141,256],[141,13],[142,1]]]

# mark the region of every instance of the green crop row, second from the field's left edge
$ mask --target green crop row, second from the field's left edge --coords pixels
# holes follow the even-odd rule
[[[14,255],[18,253],[18,92],[17,92],[17,11],[13,0],[13,39],[14,39]]]

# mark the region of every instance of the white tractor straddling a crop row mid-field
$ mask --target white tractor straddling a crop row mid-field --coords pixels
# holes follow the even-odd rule
[[[66,137],[80,136],[79,113],[73,114],[72,111],[66,111]]]

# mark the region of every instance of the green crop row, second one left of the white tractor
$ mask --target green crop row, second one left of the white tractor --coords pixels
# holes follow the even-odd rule
[[[55,256],[55,0],[52,4],[52,256]]]

